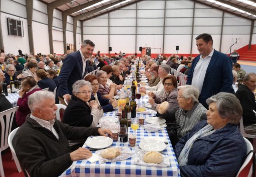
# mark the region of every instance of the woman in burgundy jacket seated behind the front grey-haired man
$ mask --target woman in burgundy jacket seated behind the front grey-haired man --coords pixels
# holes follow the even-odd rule
[[[17,106],[19,109],[16,111],[16,124],[17,126],[21,126],[28,114],[31,113],[30,108],[28,106],[29,96],[38,90],[41,90],[37,85],[36,81],[32,76],[28,76],[21,81],[22,89],[19,92],[19,99],[17,102]]]

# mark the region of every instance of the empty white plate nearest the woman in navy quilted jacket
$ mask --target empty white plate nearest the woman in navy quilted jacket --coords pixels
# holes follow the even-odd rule
[[[139,147],[147,151],[162,151],[166,148],[166,145],[160,140],[144,139],[139,143]]]

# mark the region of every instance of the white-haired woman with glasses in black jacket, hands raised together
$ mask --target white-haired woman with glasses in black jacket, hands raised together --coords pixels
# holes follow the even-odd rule
[[[63,122],[70,126],[96,127],[103,110],[96,101],[90,101],[91,83],[78,80],[72,88],[73,95],[65,109]]]

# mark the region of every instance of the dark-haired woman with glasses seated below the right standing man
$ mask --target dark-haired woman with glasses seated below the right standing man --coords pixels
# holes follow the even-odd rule
[[[161,97],[157,97],[153,92],[149,92],[149,104],[152,105],[152,108],[155,111],[158,111],[159,104],[167,101],[169,103],[168,110],[173,110],[178,107],[177,102],[177,79],[173,75],[167,75],[162,80],[164,93]]]

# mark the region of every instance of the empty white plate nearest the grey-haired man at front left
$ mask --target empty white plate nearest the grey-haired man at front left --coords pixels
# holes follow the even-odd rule
[[[103,137],[103,136],[88,138],[86,140],[86,145],[89,148],[96,148],[96,149],[107,148],[110,145],[112,145],[112,143],[113,143],[113,140],[111,138]]]

